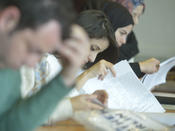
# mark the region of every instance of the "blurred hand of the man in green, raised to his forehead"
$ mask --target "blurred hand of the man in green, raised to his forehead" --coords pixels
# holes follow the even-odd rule
[[[80,26],[75,25],[72,27],[71,39],[58,45],[57,52],[63,64],[61,75],[67,86],[74,83],[77,71],[87,61],[89,46],[88,35]]]

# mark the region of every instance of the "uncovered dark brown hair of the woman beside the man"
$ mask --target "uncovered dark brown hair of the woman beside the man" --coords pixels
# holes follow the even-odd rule
[[[90,38],[107,38],[109,41],[109,47],[104,52],[108,52],[110,50],[109,57],[118,57],[118,47],[112,24],[108,20],[108,17],[102,11],[84,11],[80,13],[77,23],[86,30]],[[100,60],[98,59],[98,56],[94,63],[88,63],[84,68],[89,68],[90,66],[98,62]]]

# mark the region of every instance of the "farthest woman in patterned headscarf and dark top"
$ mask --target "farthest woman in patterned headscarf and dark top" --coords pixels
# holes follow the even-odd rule
[[[145,10],[144,0],[112,0],[114,2],[120,3],[128,9],[133,17],[134,24],[138,24],[139,17],[143,14]],[[126,43],[119,48],[119,60],[127,59],[130,60],[132,57],[139,53],[138,41],[134,32],[132,31],[126,40]]]

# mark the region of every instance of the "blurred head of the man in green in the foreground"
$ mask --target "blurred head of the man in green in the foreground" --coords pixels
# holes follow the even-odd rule
[[[1,3],[2,2],[2,3]],[[70,0],[4,0],[0,2],[0,64],[35,66],[69,36],[75,14]],[[64,35],[63,35],[64,34]]]

